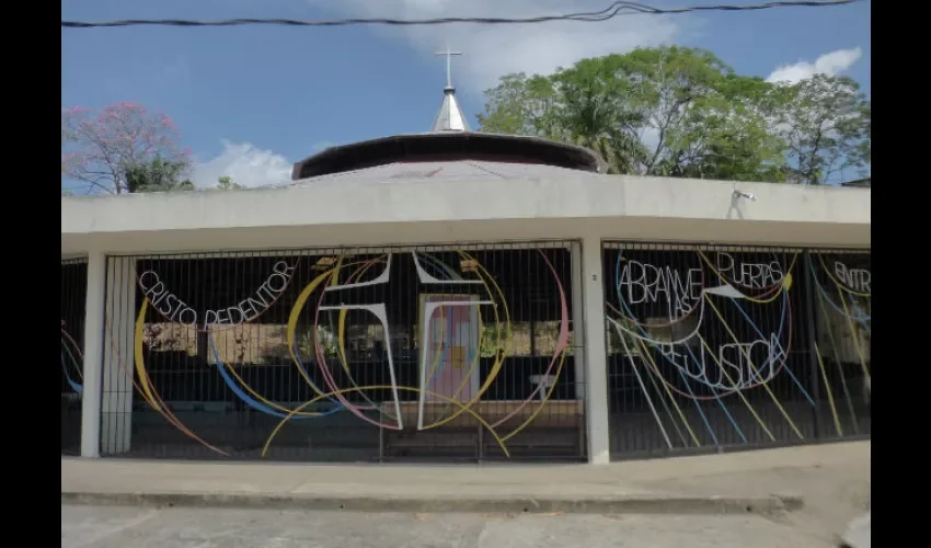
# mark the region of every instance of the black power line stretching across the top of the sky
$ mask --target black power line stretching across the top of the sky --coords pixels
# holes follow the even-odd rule
[[[783,1],[746,5],[692,5],[688,8],[653,8],[637,2],[613,2],[597,12],[566,13],[562,15],[541,15],[536,18],[438,18],[438,19],[338,19],[338,20],[296,20],[296,19],[228,19],[221,21],[191,21],[180,19],[134,19],[89,23],[82,21],[62,21],[64,28],[94,28],[108,26],[242,26],[242,25],[281,25],[281,26],[349,26],[349,25],[442,25],[451,23],[471,24],[527,24],[550,23],[554,21],[608,21],[619,15],[637,13],[648,15],[675,15],[700,11],[756,11],[772,8],[825,8],[843,5],[861,0],[823,1]]]

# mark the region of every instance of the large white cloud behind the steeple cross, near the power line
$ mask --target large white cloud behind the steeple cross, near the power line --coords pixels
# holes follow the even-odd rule
[[[337,16],[433,19],[457,16],[527,18],[597,12],[605,0],[307,0]],[[679,16],[677,22],[685,18]],[[637,46],[674,42],[680,26],[659,15],[621,15],[606,22],[554,22],[517,25],[448,24],[379,27],[373,32],[403,37],[423,56],[447,44],[463,52],[453,59],[452,81],[481,93],[508,72],[548,73],[585,57],[624,53]],[[445,81],[436,59],[437,85]]]

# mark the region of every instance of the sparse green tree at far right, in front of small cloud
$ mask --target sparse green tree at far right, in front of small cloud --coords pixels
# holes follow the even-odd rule
[[[824,184],[843,169],[861,173],[871,161],[871,101],[847,77],[815,75],[780,85],[778,134],[794,182]]]

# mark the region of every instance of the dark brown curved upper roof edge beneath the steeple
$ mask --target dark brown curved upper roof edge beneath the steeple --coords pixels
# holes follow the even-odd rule
[[[539,163],[591,173],[607,172],[605,160],[584,147],[541,137],[456,132],[395,135],[331,147],[295,163],[291,180],[388,163],[458,159]]]

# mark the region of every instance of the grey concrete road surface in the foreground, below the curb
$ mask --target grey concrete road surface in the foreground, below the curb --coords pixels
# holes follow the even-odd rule
[[[62,548],[836,548],[758,515],[61,506]]]

